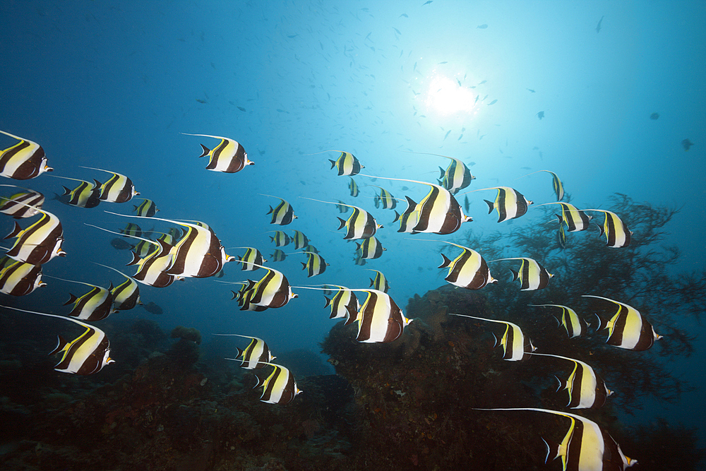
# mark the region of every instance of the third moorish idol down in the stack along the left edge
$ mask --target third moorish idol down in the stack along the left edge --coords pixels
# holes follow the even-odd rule
[[[7,256],[17,261],[42,265],[56,256],[66,256],[61,244],[64,242],[64,229],[59,217],[49,211],[36,208],[42,217],[34,224],[22,229],[17,222],[15,228],[5,239],[17,237],[15,244],[7,252]]]

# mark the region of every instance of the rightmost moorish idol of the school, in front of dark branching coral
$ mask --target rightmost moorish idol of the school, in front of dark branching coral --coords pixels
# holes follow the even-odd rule
[[[599,319],[598,330],[608,329],[608,340],[606,340],[608,345],[642,352],[652,347],[654,340],[662,338],[662,335],[654,332],[652,324],[634,307],[600,296],[590,294],[582,294],[582,296],[603,299],[618,305],[618,311],[610,321],[606,322],[596,314]]]

